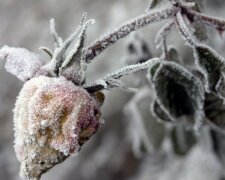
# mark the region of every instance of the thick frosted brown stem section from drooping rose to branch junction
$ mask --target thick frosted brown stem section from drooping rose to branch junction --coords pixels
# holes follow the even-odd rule
[[[131,21],[124,23],[116,30],[104,35],[102,38],[89,45],[84,50],[84,58],[87,62],[90,62],[109,46],[111,46],[118,40],[126,37],[131,32],[145,27],[148,24],[172,18],[175,16],[178,10],[179,8],[171,6],[169,8],[159,9],[155,10],[154,12],[143,14],[141,16],[136,17],[135,19],[132,19]]]

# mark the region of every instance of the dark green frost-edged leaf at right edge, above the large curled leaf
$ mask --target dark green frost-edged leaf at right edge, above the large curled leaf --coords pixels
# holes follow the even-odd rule
[[[206,89],[215,92],[216,85],[225,68],[225,60],[209,46],[198,44],[194,48],[196,64],[201,68],[207,80]]]

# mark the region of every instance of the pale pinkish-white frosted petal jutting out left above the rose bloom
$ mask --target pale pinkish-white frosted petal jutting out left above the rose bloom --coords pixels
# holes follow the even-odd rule
[[[25,48],[4,46],[0,49],[0,59],[5,60],[5,69],[21,81],[34,77],[44,61]]]

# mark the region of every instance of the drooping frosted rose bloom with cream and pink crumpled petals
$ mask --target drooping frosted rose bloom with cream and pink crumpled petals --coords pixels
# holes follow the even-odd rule
[[[101,103],[64,77],[39,76],[27,81],[15,104],[15,151],[20,175],[39,179],[99,128]]]

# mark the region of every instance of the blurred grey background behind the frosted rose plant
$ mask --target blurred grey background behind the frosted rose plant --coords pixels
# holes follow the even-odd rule
[[[225,17],[225,5],[221,5],[223,0],[207,1],[210,7],[207,12],[212,15],[219,15],[221,12],[220,15]],[[92,42],[125,20],[143,13],[148,4],[147,0],[0,0],[0,46],[7,44],[25,47],[47,58],[38,48],[41,45],[52,47],[49,35],[50,18],[55,18],[57,30],[65,38],[78,25],[82,13],[87,12],[88,17],[96,19],[96,23],[91,25],[88,31],[88,42]],[[156,27],[158,26],[147,27],[141,31],[145,33],[150,44]],[[225,55],[224,39],[220,40],[218,36],[216,39],[218,43],[214,47]],[[178,45],[182,43],[177,41]],[[96,58],[89,66],[89,77],[95,79],[121,67],[121,59],[126,54],[125,44],[126,40],[122,40]],[[152,49],[154,50],[153,45]],[[184,54],[189,53],[181,50]],[[129,78],[126,80],[130,81]],[[5,72],[3,63],[0,62],[1,180],[19,179],[19,163],[13,149],[12,109],[21,86],[22,83]],[[215,157],[212,154],[204,155],[198,147],[185,161],[165,160],[160,155],[153,159],[136,159],[126,141],[127,124],[122,115],[122,107],[129,97],[129,93],[120,90],[107,93],[103,107],[105,126],[84,145],[78,157],[70,158],[53,168],[43,176],[43,180],[221,180],[221,169]],[[199,154],[203,158],[198,159]],[[166,161],[163,167],[161,161]],[[211,166],[206,162],[211,162]],[[190,164],[198,169],[191,171]],[[183,174],[179,168],[183,169]],[[158,172],[161,171],[159,175]]]

